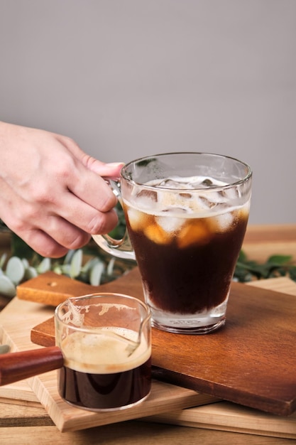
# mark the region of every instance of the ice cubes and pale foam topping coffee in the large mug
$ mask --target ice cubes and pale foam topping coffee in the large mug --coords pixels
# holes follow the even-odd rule
[[[179,239],[184,234],[185,246],[188,245],[192,234],[196,242],[209,240],[209,235],[225,232],[239,218],[248,217],[250,201],[243,203],[236,188],[224,187],[227,186],[226,183],[212,178],[174,176],[168,178],[168,181],[151,181],[147,185],[154,186],[155,191],[141,191],[140,195],[137,195],[135,188],[124,204],[132,230],[143,231],[150,240],[158,244],[168,244],[172,235]],[[149,219],[149,216],[153,219]],[[204,218],[204,221],[207,221],[202,227],[204,235],[198,230],[200,227],[197,227],[194,233],[187,234],[183,231],[185,223],[194,218]]]

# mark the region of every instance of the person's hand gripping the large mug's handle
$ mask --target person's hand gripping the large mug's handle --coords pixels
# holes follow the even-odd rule
[[[62,257],[117,224],[105,177],[123,163],[103,163],[72,139],[0,122],[0,218],[43,257]]]

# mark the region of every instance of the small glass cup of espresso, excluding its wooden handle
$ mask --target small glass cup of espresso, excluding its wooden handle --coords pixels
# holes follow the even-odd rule
[[[114,411],[145,400],[151,388],[150,310],[124,294],[67,299],[55,309],[62,350],[57,387],[66,402]]]

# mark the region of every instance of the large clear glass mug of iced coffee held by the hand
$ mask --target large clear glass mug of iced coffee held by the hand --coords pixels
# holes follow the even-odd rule
[[[244,162],[187,152],[131,161],[110,181],[127,232],[122,240],[93,238],[116,257],[136,259],[155,328],[198,334],[224,325],[251,180]]]

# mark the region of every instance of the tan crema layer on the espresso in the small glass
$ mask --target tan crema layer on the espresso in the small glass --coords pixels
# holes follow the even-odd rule
[[[151,355],[146,338],[142,335],[140,345],[131,355],[125,338],[137,341],[138,333],[125,328],[100,328],[92,333],[76,331],[60,345],[64,365],[80,372],[110,374],[145,363]]]

